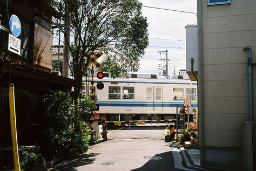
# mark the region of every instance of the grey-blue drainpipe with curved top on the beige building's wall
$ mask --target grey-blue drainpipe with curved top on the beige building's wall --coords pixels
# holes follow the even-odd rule
[[[252,122],[253,119],[253,94],[252,94],[252,65],[255,65],[255,61],[251,58],[251,48],[245,47],[244,51],[248,50],[248,81],[249,81],[249,121]]]

